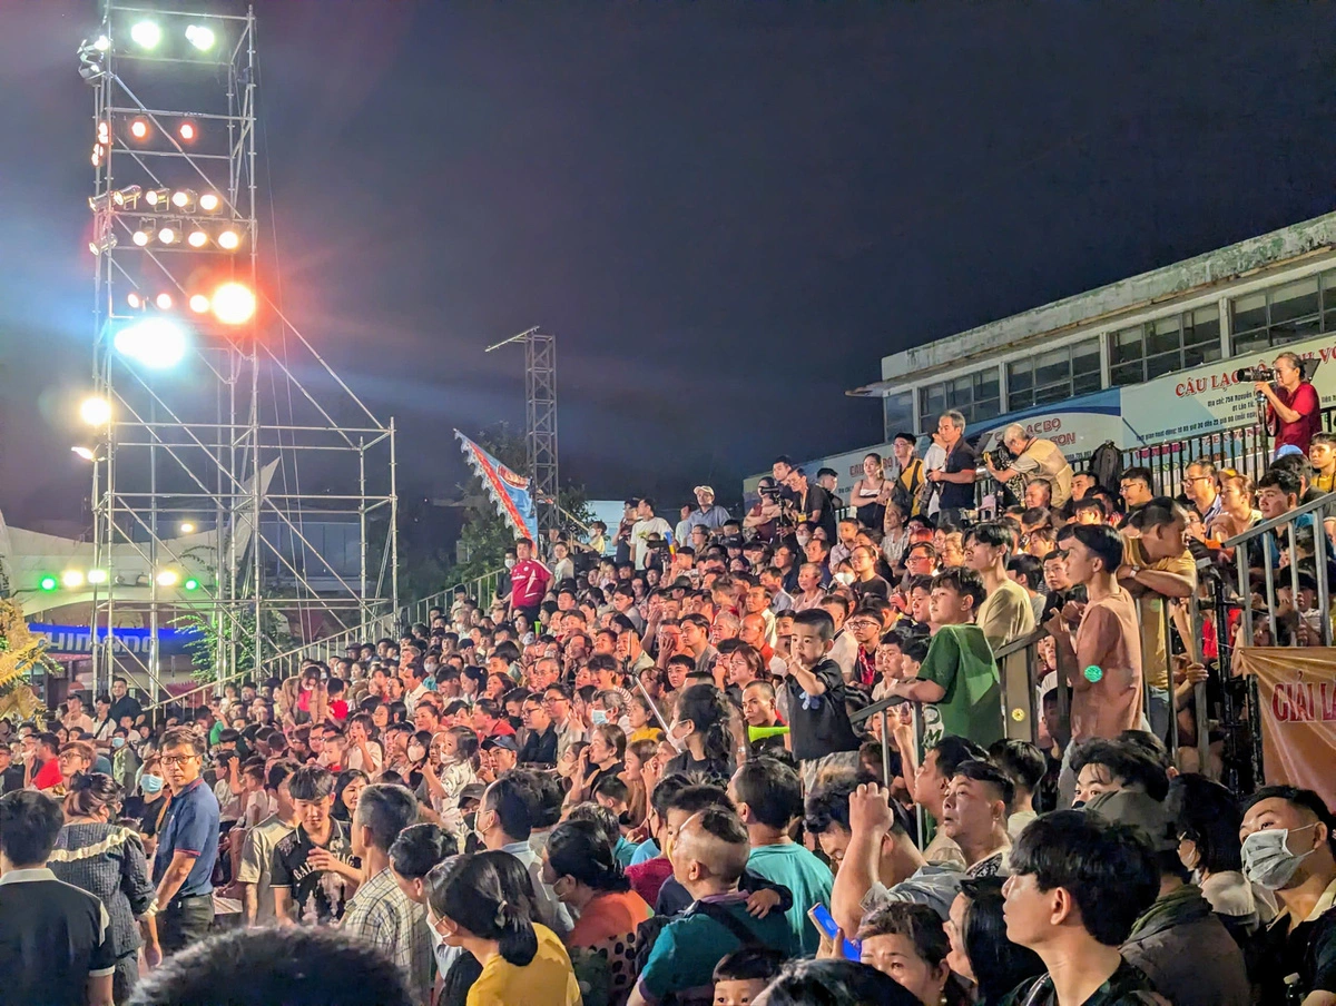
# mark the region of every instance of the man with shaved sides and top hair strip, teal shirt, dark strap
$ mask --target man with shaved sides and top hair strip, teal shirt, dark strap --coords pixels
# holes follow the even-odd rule
[[[760,945],[790,957],[799,943],[787,918],[771,911],[754,918],[739,880],[747,868],[747,830],[729,810],[693,814],[669,847],[673,876],[696,902],[669,922],[649,950],[631,994],[631,1006],[661,1002],[669,993],[707,989],[723,954]]]

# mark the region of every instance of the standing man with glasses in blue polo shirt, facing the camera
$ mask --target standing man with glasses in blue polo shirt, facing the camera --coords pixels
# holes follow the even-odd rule
[[[154,884],[158,894],[148,907],[158,915],[158,943],[144,947],[150,966],[203,939],[214,923],[214,886],[218,859],[218,799],[199,778],[204,744],[188,727],[172,727],[163,736],[162,766],[171,787],[171,806],[158,834]],[[155,959],[156,958],[156,959]]]

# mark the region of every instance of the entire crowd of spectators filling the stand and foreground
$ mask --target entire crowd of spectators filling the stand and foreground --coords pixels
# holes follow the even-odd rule
[[[1190,760],[1222,672],[1182,617],[1336,440],[1173,496],[965,433],[868,454],[847,509],[778,458],[743,514],[517,541],[496,597],[160,725],[120,680],[19,724],[0,1003],[1336,1003],[1336,822]],[[1277,540],[1289,641],[1325,533]],[[998,652],[1035,639],[1018,731]]]

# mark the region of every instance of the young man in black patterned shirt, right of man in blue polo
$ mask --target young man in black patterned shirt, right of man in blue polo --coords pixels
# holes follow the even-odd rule
[[[317,766],[287,780],[297,828],[274,844],[270,883],[279,925],[311,926],[343,918],[361,878],[349,826],[335,820],[334,776]]]

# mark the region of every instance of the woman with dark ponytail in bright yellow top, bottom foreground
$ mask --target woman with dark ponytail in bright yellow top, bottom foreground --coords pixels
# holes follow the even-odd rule
[[[518,859],[453,856],[433,867],[426,888],[434,939],[468,950],[482,966],[468,1006],[580,1006],[570,957],[556,933],[533,920],[533,888]]]

